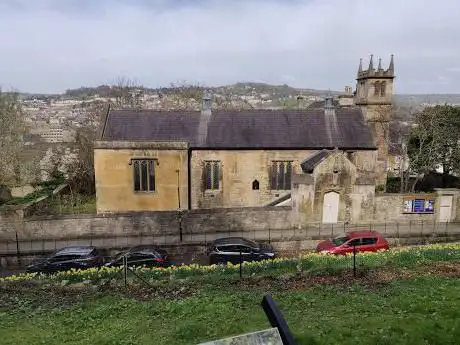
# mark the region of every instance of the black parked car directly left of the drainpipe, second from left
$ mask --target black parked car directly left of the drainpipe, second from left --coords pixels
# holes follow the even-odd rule
[[[167,267],[170,265],[165,250],[153,245],[142,245],[118,253],[105,266],[122,266],[125,256],[128,266]]]

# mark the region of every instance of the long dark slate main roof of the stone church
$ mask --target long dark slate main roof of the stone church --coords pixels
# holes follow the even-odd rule
[[[200,111],[111,110],[101,140],[186,141],[192,148],[214,149],[375,149],[359,108],[337,108],[332,115],[321,108],[218,110],[210,117]]]

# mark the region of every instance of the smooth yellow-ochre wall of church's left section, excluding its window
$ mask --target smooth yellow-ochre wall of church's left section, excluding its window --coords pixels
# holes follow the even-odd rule
[[[155,191],[136,192],[132,159],[154,159]],[[187,148],[180,145],[99,143],[94,150],[97,212],[187,209]]]

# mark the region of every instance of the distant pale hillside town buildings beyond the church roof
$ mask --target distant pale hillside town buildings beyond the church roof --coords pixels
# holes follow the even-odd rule
[[[257,86],[237,85],[212,88],[216,106],[231,108],[255,108],[255,109],[276,109],[280,107],[292,107],[296,104],[296,97],[301,90],[288,86],[285,93],[279,93],[276,86],[264,85],[267,89],[273,88],[272,92],[260,90]],[[200,98],[193,98],[192,94],[184,95],[181,92],[184,88],[192,86],[171,87],[165,92],[155,90],[135,89],[138,93],[137,101],[143,109],[199,109]],[[197,88],[202,89],[202,88]],[[97,93],[92,96],[79,96],[78,90],[70,90],[64,95],[35,95],[25,96],[23,109],[26,114],[25,121],[29,127],[27,141],[44,141],[48,143],[72,142],[75,130],[86,123],[88,113],[94,110],[94,105],[107,105],[115,103],[114,97],[100,96]],[[265,92],[264,92],[265,91]],[[94,88],[97,92],[97,88]],[[306,104],[322,99],[320,95],[305,95]]]

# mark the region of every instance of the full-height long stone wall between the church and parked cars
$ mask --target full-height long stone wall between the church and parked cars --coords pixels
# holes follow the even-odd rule
[[[0,219],[0,258],[2,262],[9,261],[5,258],[33,258],[70,245],[94,245],[113,252],[138,244],[155,244],[183,255],[204,252],[208,243],[227,236],[267,241],[279,250],[298,252],[314,249],[320,240],[357,229],[377,230],[392,243],[460,240],[460,223],[410,216],[378,223],[298,224],[287,206],[15,217]]]

